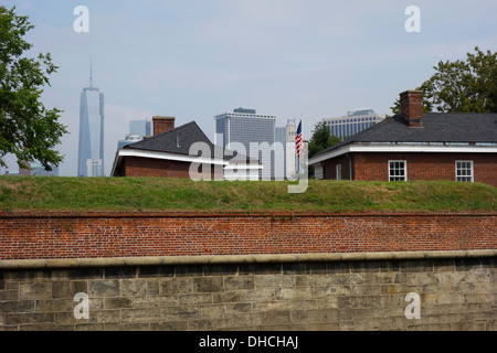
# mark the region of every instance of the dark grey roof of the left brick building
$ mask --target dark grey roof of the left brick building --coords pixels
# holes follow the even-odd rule
[[[212,143],[195,121],[190,121],[172,130],[129,143],[124,148],[190,156],[190,147],[194,142],[204,142],[209,146],[211,152],[216,151],[212,157],[223,156],[224,160],[231,160],[234,157],[224,156],[232,153],[223,153],[223,148]],[[233,154],[236,156],[235,152]]]

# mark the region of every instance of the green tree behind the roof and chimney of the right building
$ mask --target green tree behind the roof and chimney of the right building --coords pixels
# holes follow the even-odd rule
[[[438,62],[423,90],[424,111],[497,113],[497,53],[475,47],[465,61]],[[392,113],[400,113],[399,99]]]

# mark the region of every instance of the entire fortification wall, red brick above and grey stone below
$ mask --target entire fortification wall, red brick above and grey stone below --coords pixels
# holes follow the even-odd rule
[[[4,214],[0,331],[495,331],[496,229],[495,213]]]

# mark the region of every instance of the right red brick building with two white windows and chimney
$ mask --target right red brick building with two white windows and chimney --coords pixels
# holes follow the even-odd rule
[[[309,159],[317,179],[455,180],[497,188],[497,114],[422,113],[422,93],[400,94],[401,114]]]

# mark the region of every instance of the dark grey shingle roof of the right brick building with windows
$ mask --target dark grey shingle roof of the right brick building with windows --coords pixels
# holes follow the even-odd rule
[[[410,128],[398,114],[313,156],[350,143],[452,142],[497,143],[497,114],[423,113],[423,127]]]

